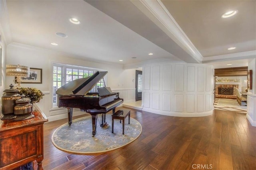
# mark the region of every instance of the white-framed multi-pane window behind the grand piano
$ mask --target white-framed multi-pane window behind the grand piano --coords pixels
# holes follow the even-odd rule
[[[52,88],[52,96],[53,96],[53,107],[57,107],[57,95],[56,90],[63,86],[64,84],[76,80],[78,78],[84,78],[88,76],[92,76],[96,69],[86,68],[81,66],[70,66],[65,64],[53,64],[53,88]],[[106,76],[104,77],[106,80]],[[98,87],[103,87],[104,80],[103,78],[90,90],[90,92],[97,92]]]

